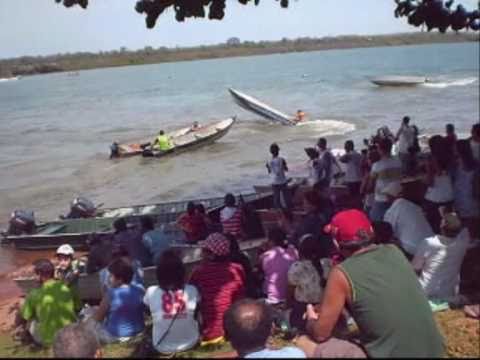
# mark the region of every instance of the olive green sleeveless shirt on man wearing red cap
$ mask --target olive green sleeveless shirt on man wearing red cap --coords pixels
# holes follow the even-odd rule
[[[443,338],[413,267],[394,245],[339,265],[352,288],[351,314],[370,357],[442,357]]]

